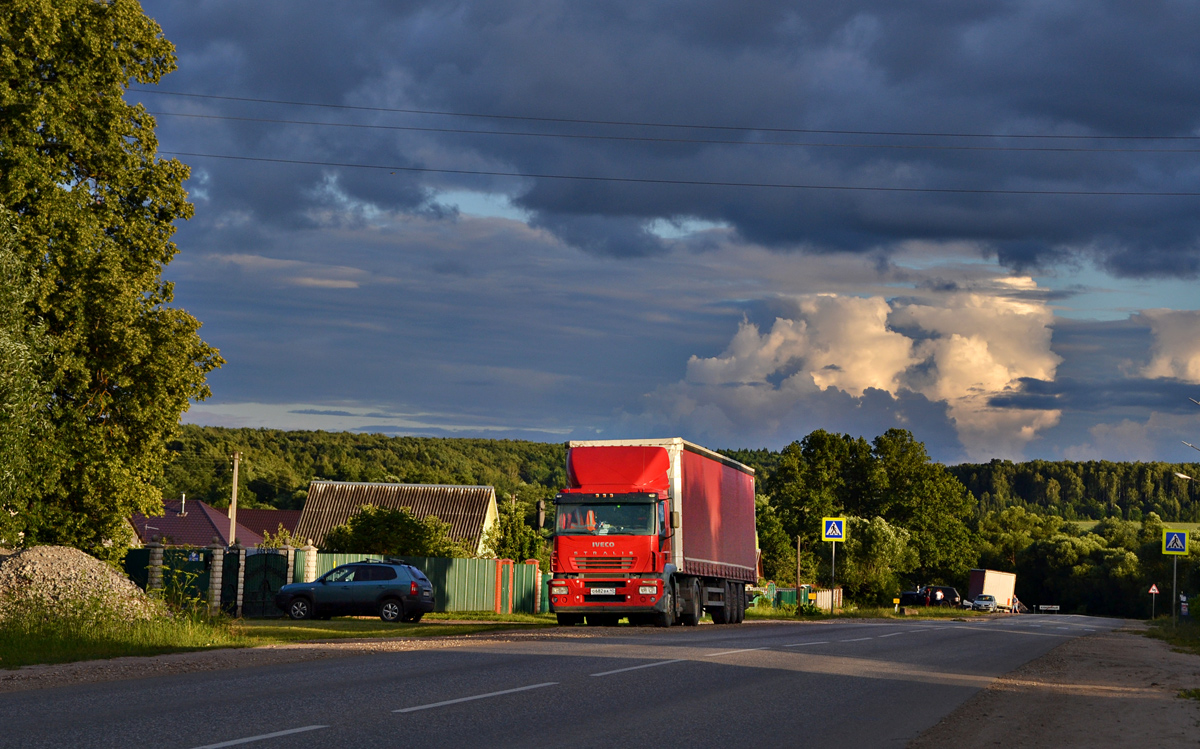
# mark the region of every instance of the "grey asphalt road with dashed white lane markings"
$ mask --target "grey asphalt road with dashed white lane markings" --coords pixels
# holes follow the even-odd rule
[[[0,694],[0,747],[902,747],[1115,619],[547,630]]]

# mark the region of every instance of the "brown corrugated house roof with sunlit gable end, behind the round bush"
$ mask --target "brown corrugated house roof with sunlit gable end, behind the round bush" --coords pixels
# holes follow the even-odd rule
[[[313,481],[300,511],[296,537],[318,547],[335,526],[346,523],[364,504],[398,510],[418,517],[436,516],[450,525],[449,537],[482,551],[484,533],[496,522],[496,490],[491,486],[443,484],[373,484]]]

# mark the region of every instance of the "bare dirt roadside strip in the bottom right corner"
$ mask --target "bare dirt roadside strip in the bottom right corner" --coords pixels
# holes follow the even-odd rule
[[[954,747],[1200,745],[1200,655],[1140,629],[1070,640],[997,679],[908,744]]]

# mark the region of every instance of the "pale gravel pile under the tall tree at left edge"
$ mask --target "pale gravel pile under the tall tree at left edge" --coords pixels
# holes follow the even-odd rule
[[[55,609],[107,604],[125,618],[149,619],[156,601],[128,577],[70,546],[34,546],[0,557],[0,618],[29,599],[41,599]]]

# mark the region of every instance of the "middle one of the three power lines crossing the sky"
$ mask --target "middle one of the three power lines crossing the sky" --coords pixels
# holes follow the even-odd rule
[[[367,125],[360,122],[319,122],[311,120],[278,120],[272,118],[233,116],[224,114],[194,114],[186,112],[149,112],[155,116],[190,118],[198,120],[228,120],[235,122],[269,122],[274,125],[311,125],[320,127],[352,127],[403,132],[458,133],[473,136],[520,136],[528,138],[563,138],[575,140],[618,140],[637,143],[688,143],[702,145],[774,145],[844,149],[900,149],[928,151],[1050,151],[1084,154],[1200,154],[1200,149],[1159,148],[1084,148],[1084,146],[1013,146],[1013,145],[932,145],[922,143],[821,143],[803,140],[728,140],[719,138],[662,138],[649,136],[596,136],[588,133],[548,133],[511,130],[472,130],[466,127],[418,127],[413,125]]]

